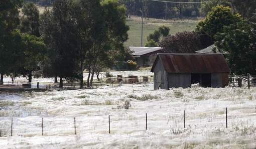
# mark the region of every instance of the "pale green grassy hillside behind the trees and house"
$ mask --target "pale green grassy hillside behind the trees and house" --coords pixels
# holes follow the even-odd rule
[[[159,19],[146,19],[144,25],[143,43],[145,45],[147,36],[153,33],[160,26],[167,26],[170,28],[170,34],[175,34],[182,31],[192,31],[195,29],[199,20],[159,20]],[[131,17],[127,20],[130,26],[129,39],[124,43],[125,47],[141,46],[141,18]]]

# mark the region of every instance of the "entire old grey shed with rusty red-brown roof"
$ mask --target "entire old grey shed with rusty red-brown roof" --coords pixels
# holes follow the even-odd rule
[[[229,68],[222,54],[159,53],[152,66],[154,89],[228,85]]]

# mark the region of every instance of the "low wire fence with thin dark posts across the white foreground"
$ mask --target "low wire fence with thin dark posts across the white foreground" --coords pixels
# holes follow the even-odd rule
[[[255,106],[250,106],[246,108],[254,109]],[[232,108],[231,108],[232,109]],[[244,118],[246,115],[246,119],[249,116],[254,116],[253,113],[251,114],[228,114],[228,108],[223,109],[220,111],[222,114],[211,117],[204,116],[200,117],[200,123],[205,119],[205,124],[213,124],[217,127],[217,123],[219,123],[223,128],[230,128],[233,130],[235,119]],[[232,112],[230,112],[232,113]],[[180,111],[179,113],[173,113],[173,117],[180,117],[179,121],[174,121],[175,129],[183,132],[187,128],[191,129],[191,125],[197,125],[198,121],[194,121],[191,119],[191,115],[195,113],[184,110]],[[84,131],[96,131],[99,133],[118,133],[120,129],[127,128],[129,129],[127,133],[131,131],[145,131],[148,129],[153,130],[159,124],[157,123],[158,120],[155,118],[151,118],[151,116],[155,115],[155,113],[145,113],[144,115],[138,115],[133,119],[130,118],[123,118],[123,117],[116,117],[112,115],[105,115],[101,116],[100,118],[96,118],[92,121],[92,119],[86,119],[80,117],[42,117],[41,119],[38,117],[30,118],[30,121],[27,121],[23,118],[12,117],[4,119],[3,125],[0,127],[0,137],[6,136],[51,136],[51,135],[70,135],[77,133],[83,133]],[[159,116],[161,117],[161,116]],[[19,119],[19,120],[18,120]],[[222,119],[222,120],[220,120]],[[126,121],[129,120],[129,121]],[[159,120],[163,121],[163,119]],[[166,125],[162,124],[160,127],[163,129],[167,129],[168,125],[171,123],[172,119],[165,119],[164,121],[168,121]],[[97,124],[99,123],[99,124]],[[127,124],[130,123],[130,124]],[[178,123],[178,124],[177,124]],[[198,124],[200,124],[198,123]],[[136,124],[136,125],[133,125]],[[65,129],[63,129],[65,127]],[[129,128],[130,127],[130,128]],[[159,128],[159,127],[158,127]],[[253,127],[254,128],[254,127]],[[133,130],[137,129],[137,130]],[[170,127],[168,128],[170,129]],[[256,129],[256,127],[255,127]],[[126,133],[125,130],[121,130],[122,132]],[[173,130],[174,131],[174,130]],[[175,130],[176,131],[176,130]],[[175,132],[174,132],[175,133]],[[177,133],[177,132],[176,132]]]

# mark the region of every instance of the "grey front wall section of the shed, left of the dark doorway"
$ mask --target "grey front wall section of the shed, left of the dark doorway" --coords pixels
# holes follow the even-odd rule
[[[168,82],[169,82],[169,88],[191,87],[191,74],[190,73],[169,73]]]

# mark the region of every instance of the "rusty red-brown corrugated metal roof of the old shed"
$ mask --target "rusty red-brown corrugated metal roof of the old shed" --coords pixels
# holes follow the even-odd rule
[[[168,73],[230,72],[222,54],[159,53],[152,66],[152,72],[158,60]]]

